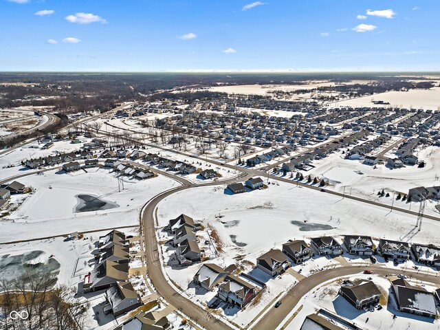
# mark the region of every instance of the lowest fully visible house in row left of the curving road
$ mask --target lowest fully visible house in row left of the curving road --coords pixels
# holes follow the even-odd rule
[[[129,281],[116,282],[105,292],[108,304],[104,305],[104,314],[113,313],[115,318],[142,306],[142,300]]]

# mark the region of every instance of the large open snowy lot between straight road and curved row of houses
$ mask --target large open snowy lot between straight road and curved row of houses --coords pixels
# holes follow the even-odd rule
[[[425,219],[417,232],[415,216],[287,183],[239,195],[230,195],[225,186],[191,188],[167,197],[157,208],[159,225],[187,214],[217,232],[221,256],[245,255],[252,263],[288,239],[322,235],[368,234],[440,243],[437,221]]]

